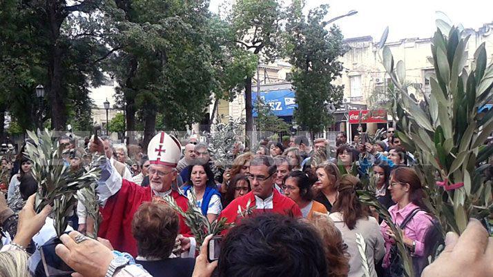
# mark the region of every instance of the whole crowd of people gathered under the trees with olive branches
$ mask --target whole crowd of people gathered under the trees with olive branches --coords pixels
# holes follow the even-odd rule
[[[443,254],[428,265],[436,216],[424,203],[414,157],[392,127],[374,143],[363,135],[348,143],[343,132],[334,144],[316,139],[311,145],[306,136],[293,136],[287,145],[266,139],[251,152],[236,147],[225,168],[215,165],[205,142],[191,138],[182,150],[164,132],[146,153],[106,137],[80,147],[68,137],[59,143],[73,171],[84,170],[91,155],[106,157],[97,187],[100,238],[84,235],[93,227],[79,203],[52,254],[82,276],[401,276],[396,234],[356,194],[370,179],[402,229],[415,276],[458,276],[454,269],[461,266],[476,274],[470,276],[493,275],[493,242],[477,220],[461,238],[447,234]],[[23,150],[1,162],[8,185],[6,197],[0,195],[0,276],[43,276],[46,265],[34,257],[46,241],[39,237],[55,236],[54,229],[43,232],[52,207],[35,213],[37,181]],[[211,236],[199,251],[185,218],[162,201],[170,197],[184,211],[194,197],[209,223],[234,223],[221,232],[217,261],[207,256]]]

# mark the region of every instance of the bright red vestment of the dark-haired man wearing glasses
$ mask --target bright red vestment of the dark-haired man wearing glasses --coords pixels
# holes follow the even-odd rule
[[[222,210],[220,217],[228,218],[226,223],[240,223],[242,217],[238,216],[238,206],[240,206],[242,208],[242,212],[244,212],[249,200],[250,207],[255,206],[255,195],[253,195],[253,192],[249,192],[248,194],[231,201],[231,203],[229,203],[229,205]],[[273,212],[276,214],[302,217],[300,207],[298,207],[298,205],[296,205],[291,198],[281,195],[277,189],[273,189],[272,207],[272,209],[254,209],[253,214]]]

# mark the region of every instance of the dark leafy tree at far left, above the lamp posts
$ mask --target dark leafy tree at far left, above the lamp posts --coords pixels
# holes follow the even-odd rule
[[[45,87],[42,121],[63,130],[72,112],[88,99],[88,87],[102,79],[99,65],[108,57],[112,17],[105,16],[106,0],[7,0],[0,3],[0,41],[3,56],[0,83],[10,93],[7,110],[24,128],[31,128],[39,106],[35,87]],[[6,12],[3,12],[6,11]],[[5,50],[5,51],[3,51]],[[3,75],[3,74],[2,74]],[[27,107],[27,109],[26,109]],[[87,106],[86,106],[87,107]],[[84,109],[86,108],[84,107]],[[86,110],[87,112],[88,110]],[[83,116],[84,117],[84,116]],[[87,116],[85,116],[87,117]]]

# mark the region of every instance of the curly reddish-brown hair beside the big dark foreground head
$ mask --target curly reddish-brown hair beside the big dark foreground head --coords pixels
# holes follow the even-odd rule
[[[327,214],[313,212],[310,221],[322,237],[322,244],[327,259],[329,277],[347,276],[349,273],[349,254],[342,234]]]

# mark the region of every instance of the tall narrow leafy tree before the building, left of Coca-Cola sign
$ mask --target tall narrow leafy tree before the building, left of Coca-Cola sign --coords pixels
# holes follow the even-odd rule
[[[302,15],[301,1],[294,1],[289,9],[287,52],[291,52],[293,90],[296,92],[294,118],[298,124],[314,133],[322,132],[334,122],[328,105],[340,106],[343,85],[333,85],[342,71],[338,57],[346,52],[342,34],[336,26],[327,28],[324,21],[329,9],[322,5]]]

